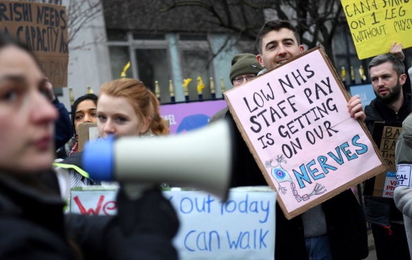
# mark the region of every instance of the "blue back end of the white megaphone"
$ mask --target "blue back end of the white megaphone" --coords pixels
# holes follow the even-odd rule
[[[115,137],[108,137],[86,145],[82,165],[92,180],[114,180],[114,143]]]

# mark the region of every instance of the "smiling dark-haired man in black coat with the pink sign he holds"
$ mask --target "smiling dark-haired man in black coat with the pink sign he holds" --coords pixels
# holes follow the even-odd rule
[[[296,29],[288,21],[266,23],[258,34],[256,45],[258,61],[266,68],[260,74],[266,71],[271,73],[271,69],[284,62],[293,64],[293,73],[286,74],[284,68],[292,65],[284,64],[283,68],[277,68],[277,73],[271,73],[273,77],[279,77],[280,85],[267,82],[270,78],[264,75],[248,82],[249,86],[242,89],[242,96],[237,91],[241,86],[225,93],[231,108],[226,116],[234,119],[238,127],[241,126],[240,132],[236,131],[235,135],[240,164],[238,169],[241,170],[234,176],[233,186],[269,184],[278,191],[275,259],[291,259],[292,256],[293,259],[364,259],[368,255],[365,215],[349,186],[344,190],[339,189],[337,184],[347,181],[349,185],[358,178],[353,162],[359,165],[362,160],[371,161],[370,165],[361,166],[361,172],[369,173],[372,169],[382,167],[382,162],[371,152],[374,150],[373,144],[354,120],[365,119],[361,100],[355,96],[346,102],[333,82],[333,75],[325,73],[330,68],[325,67],[325,61],[317,49],[299,56],[300,63],[295,62],[295,59],[290,61],[304,52],[304,46],[300,44]],[[327,75],[326,78],[322,78],[323,73]],[[319,75],[319,83],[312,84],[312,89],[307,87],[310,86],[309,82],[318,80]],[[293,91],[297,89],[302,90],[304,95],[295,94]],[[288,97],[283,97],[286,93]],[[323,96],[325,102],[319,104],[317,99]],[[314,108],[308,110],[304,108],[304,103],[313,103],[311,106]],[[343,111],[349,111],[347,119],[337,121],[338,113],[341,115]],[[286,118],[287,121],[283,123]],[[312,128],[314,131],[310,136],[310,131],[306,130]],[[301,136],[304,132],[306,137],[309,136],[308,141]],[[338,137],[337,132],[340,132]],[[349,135],[350,140],[342,139]],[[339,143],[336,151],[333,149],[330,152],[329,147],[321,151],[318,147],[318,150],[301,152],[304,149],[302,147],[311,147],[316,140],[319,143],[319,139],[324,138],[331,140],[331,147]],[[285,141],[283,152],[277,153],[276,149],[279,150],[280,145],[274,144],[282,141]],[[296,164],[297,156],[300,160],[304,158],[308,164],[291,169],[290,165]],[[318,161],[310,161],[312,156],[316,156]],[[334,161],[341,163],[333,164]],[[339,174],[336,174],[338,167],[341,172],[338,170]],[[265,168],[265,174],[262,174]],[[336,183],[330,182],[332,178],[336,178]],[[331,193],[334,193],[333,198]],[[317,203],[317,206],[309,206],[312,202]],[[303,206],[306,204],[308,206]]]

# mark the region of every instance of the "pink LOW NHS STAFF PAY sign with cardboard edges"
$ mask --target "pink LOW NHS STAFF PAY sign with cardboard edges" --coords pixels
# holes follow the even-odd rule
[[[288,219],[386,171],[361,119],[350,117],[350,96],[321,47],[225,98]]]

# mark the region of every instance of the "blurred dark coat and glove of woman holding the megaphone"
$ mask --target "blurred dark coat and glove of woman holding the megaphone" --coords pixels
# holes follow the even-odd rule
[[[177,259],[179,221],[161,191],[130,201],[121,190],[117,202],[116,217],[63,215],[56,174],[0,173],[0,259]]]

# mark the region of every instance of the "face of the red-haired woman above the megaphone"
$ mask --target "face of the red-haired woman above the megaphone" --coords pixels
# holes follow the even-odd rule
[[[150,118],[141,122],[130,100],[102,94],[98,102],[98,130],[100,137],[139,135],[148,130]]]

